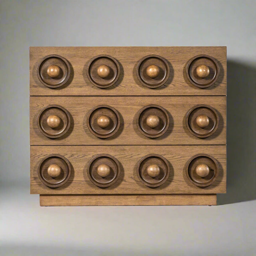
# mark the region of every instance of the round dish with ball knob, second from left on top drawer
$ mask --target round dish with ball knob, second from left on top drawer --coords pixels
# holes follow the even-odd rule
[[[98,55],[87,66],[87,77],[97,87],[107,88],[115,84],[120,76],[120,66],[109,55]]]

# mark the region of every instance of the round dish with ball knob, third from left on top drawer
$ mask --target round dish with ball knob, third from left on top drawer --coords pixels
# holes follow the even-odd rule
[[[156,88],[166,83],[170,75],[170,67],[161,56],[148,55],[140,60],[136,73],[143,85]]]

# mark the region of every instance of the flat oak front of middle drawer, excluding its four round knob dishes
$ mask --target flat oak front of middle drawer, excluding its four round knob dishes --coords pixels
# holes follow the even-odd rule
[[[68,132],[56,139],[44,136],[37,127],[38,113],[48,105],[60,105],[71,114]],[[120,114],[121,125],[113,136],[101,139],[87,127],[87,116],[97,105],[109,105]],[[158,138],[148,138],[139,132],[136,116],[141,108],[159,105],[170,114],[167,132]],[[206,104],[219,114],[219,127],[208,138],[197,138],[186,127],[186,114],[194,106]],[[148,97],[30,97],[30,144],[31,145],[225,145],[226,144],[226,97],[225,96],[148,96]]]

